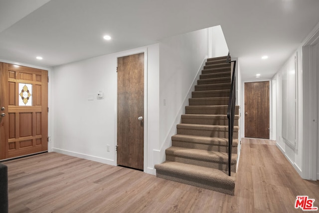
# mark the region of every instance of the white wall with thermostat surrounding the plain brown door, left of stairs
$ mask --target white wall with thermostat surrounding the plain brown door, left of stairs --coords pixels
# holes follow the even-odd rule
[[[145,153],[152,153],[159,143],[159,44],[53,68],[53,151],[117,164],[117,57],[139,52],[145,52],[147,65]],[[96,98],[99,91],[104,99]],[[153,157],[146,156],[144,161],[145,172],[153,174]]]

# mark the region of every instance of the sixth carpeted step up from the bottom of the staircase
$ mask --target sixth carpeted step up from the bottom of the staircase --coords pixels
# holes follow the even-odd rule
[[[227,114],[227,105],[218,105],[218,106],[185,106],[186,114],[218,114],[226,115]],[[239,106],[235,106],[235,114],[239,115]]]

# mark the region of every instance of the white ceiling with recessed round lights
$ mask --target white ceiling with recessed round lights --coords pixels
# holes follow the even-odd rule
[[[243,79],[270,78],[318,22],[319,0],[0,0],[0,59],[57,66],[221,25]]]

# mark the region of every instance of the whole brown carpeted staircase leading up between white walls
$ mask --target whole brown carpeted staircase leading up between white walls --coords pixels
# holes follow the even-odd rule
[[[226,57],[207,59],[200,79],[177,124],[166,161],[155,165],[157,177],[234,195],[239,106],[235,108],[231,176],[228,176],[227,107],[231,67]]]

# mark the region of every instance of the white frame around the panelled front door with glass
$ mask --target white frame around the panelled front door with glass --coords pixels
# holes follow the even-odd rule
[[[20,62],[16,62],[16,61],[9,61],[9,60],[4,60],[0,58],[0,62],[3,63],[9,63],[9,64],[16,64],[16,65],[20,65],[20,66],[26,66],[26,67],[31,67],[31,68],[36,68],[36,69],[44,69],[48,71],[48,78],[49,78],[49,82],[48,82],[48,108],[49,108],[49,112],[48,112],[48,152],[52,152],[52,141],[53,138],[51,137],[51,133],[52,133],[52,106],[51,106],[51,79],[52,79],[52,75],[51,75],[51,70],[52,68],[50,67],[45,67],[45,66],[36,66],[36,65],[31,65],[31,64],[26,64],[26,63],[20,63]],[[7,160],[7,159],[6,159]]]

